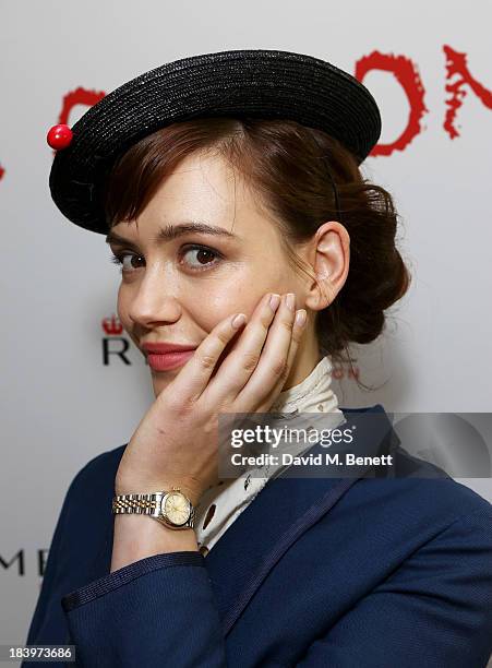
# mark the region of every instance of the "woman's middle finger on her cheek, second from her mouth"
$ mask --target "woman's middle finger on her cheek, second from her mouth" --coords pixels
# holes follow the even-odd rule
[[[241,333],[241,338],[233,350],[220,365],[216,375],[208,384],[206,401],[218,406],[231,404],[244,387],[262,355],[262,348],[268,335],[268,327],[275,318],[275,309],[267,294],[257,305],[250,322]],[[204,395],[205,397],[205,395]]]

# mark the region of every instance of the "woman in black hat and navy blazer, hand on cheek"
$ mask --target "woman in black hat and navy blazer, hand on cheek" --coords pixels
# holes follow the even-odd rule
[[[53,129],[53,200],[106,235],[156,401],[70,486],[28,643],[91,667],[485,666],[491,504],[331,389],[409,283],[392,199],[359,171],[380,131],[353,77],[273,50],[163,65]],[[358,428],[393,477],[226,477],[228,414]]]

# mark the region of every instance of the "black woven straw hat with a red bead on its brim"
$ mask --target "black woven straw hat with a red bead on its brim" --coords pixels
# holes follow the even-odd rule
[[[116,160],[160,128],[205,117],[295,120],[339,140],[359,165],[381,134],[371,93],[329,62],[271,49],[192,56],[119,86],[73,128],[51,128],[56,205],[75,225],[107,234],[104,192]]]

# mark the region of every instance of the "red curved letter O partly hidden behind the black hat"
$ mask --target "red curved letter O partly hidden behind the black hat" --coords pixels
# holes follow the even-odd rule
[[[377,144],[369,155],[391,155],[394,151],[403,151],[421,132],[420,121],[428,111],[423,104],[425,90],[417,70],[417,65],[405,56],[393,56],[373,51],[356,62],[356,79],[362,83],[365,74],[372,70],[392,72],[400,84],[410,105],[410,114],[405,130],[392,144]]]

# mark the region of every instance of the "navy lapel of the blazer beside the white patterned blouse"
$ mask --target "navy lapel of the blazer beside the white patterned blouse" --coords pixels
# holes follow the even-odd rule
[[[341,410],[348,422],[346,426],[358,430],[357,444],[347,448],[347,452],[381,454],[387,451],[391,439],[386,437],[394,432],[380,404]],[[328,450],[317,442],[309,452],[315,455]],[[287,468],[267,481],[205,557],[225,635],[281,556],[328,513],[370,467],[349,468],[345,468],[341,478],[310,477],[309,470],[307,477],[289,477],[291,467]],[[329,468],[331,476],[333,470]],[[320,467],[316,472],[319,476]]]

